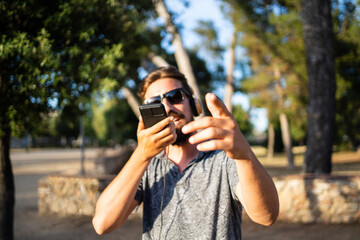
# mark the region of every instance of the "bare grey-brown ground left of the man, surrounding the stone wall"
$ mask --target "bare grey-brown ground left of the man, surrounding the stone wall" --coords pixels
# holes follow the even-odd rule
[[[92,168],[98,149],[85,151],[85,170]],[[81,153],[78,149],[13,151],[11,161],[15,176],[16,240],[91,240],[139,239],[141,219],[132,219],[111,235],[98,236],[90,217],[40,216],[37,209],[38,181],[49,174],[80,172]]]

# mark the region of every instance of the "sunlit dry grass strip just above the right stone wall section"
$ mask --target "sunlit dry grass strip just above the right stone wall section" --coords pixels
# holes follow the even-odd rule
[[[304,158],[306,146],[294,147],[294,169],[287,168],[285,153],[276,153],[273,159],[267,159],[267,150],[264,147],[252,147],[255,155],[271,176],[283,176],[304,173]],[[334,152],[332,155],[332,174],[352,175],[360,174],[360,151]]]

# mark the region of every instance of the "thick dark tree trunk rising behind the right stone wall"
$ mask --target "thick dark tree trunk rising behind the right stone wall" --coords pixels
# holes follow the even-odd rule
[[[302,0],[309,77],[305,171],[330,173],[335,121],[335,63],[329,0]]]

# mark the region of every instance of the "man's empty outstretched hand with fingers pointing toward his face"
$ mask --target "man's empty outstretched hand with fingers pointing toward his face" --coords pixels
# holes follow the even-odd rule
[[[213,93],[208,93],[205,100],[212,117],[197,119],[182,128],[185,134],[202,130],[189,142],[197,144],[199,151],[224,150],[232,159],[248,159],[249,144],[225,104]]]

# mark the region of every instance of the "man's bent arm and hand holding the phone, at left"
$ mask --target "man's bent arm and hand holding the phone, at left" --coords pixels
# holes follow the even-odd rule
[[[172,117],[168,117],[148,129],[140,120],[137,148],[96,203],[93,226],[98,234],[120,227],[138,205],[134,197],[151,159],[176,140],[172,120]]]

